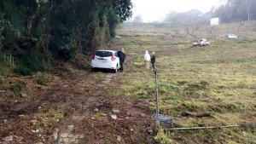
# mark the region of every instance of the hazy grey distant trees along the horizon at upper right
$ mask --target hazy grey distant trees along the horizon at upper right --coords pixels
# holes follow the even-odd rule
[[[170,23],[172,26],[208,26],[210,20],[216,17],[220,19],[221,23],[256,20],[255,8],[256,0],[226,0],[225,4],[218,8],[212,8],[207,13],[196,9],[183,13],[172,11],[167,14],[163,23]],[[135,22],[137,22],[136,20],[139,19],[135,19]]]

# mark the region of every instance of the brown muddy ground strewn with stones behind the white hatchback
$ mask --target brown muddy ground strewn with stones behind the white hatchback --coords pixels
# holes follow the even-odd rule
[[[102,78],[91,78],[96,72],[90,71],[63,72],[52,86],[34,84],[30,100],[2,100],[0,143],[152,143],[148,103],[109,95],[119,87],[119,73],[100,73]]]

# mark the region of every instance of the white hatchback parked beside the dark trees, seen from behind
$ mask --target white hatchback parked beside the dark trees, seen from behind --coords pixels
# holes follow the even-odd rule
[[[98,50],[91,58],[91,70],[108,69],[116,73],[120,68],[120,61],[117,51]]]

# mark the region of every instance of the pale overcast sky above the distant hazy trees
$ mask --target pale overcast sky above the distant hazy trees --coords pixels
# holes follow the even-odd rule
[[[170,11],[184,12],[189,9],[209,11],[220,5],[220,0],[131,0],[133,18],[141,14],[144,22],[163,20]]]

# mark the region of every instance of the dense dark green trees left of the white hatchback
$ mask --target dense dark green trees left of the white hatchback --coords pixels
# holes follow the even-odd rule
[[[15,56],[15,72],[44,71],[103,47],[129,17],[131,0],[1,0],[0,54]]]

